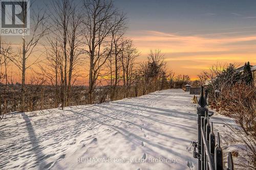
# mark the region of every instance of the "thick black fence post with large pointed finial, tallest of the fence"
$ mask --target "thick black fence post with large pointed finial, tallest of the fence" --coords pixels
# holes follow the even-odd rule
[[[202,151],[201,151],[201,138],[202,138],[202,134],[201,134],[201,116],[205,115],[205,111],[207,110],[205,108],[205,106],[207,105],[206,100],[204,99],[204,87],[201,87],[201,95],[200,98],[198,100],[198,104],[200,105],[200,107],[197,108],[197,124],[198,124],[198,153],[200,155],[202,155]],[[200,159],[198,159],[198,169],[201,170],[202,166],[201,166],[201,160],[202,157]]]

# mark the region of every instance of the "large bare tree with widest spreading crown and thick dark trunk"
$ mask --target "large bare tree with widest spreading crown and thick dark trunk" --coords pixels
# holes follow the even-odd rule
[[[85,49],[90,59],[88,101],[92,104],[96,80],[102,76],[103,66],[111,54],[106,46],[113,37],[112,32],[122,23],[120,19],[116,19],[122,14],[114,8],[112,1],[107,0],[86,0],[84,8]]]

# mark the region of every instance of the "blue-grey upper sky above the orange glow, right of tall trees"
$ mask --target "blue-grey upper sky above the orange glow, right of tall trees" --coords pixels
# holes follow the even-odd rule
[[[253,0],[116,0],[115,4],[127,13],[130,30],[146,27],[162,32],[198,33],[201,30],[199,33],[208,33],[256,26],[256,1]]]

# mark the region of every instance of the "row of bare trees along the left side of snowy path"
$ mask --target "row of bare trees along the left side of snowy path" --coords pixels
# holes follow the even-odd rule
[[[125,36],[127,17],[112,1],[57,0],[30,10],[30,36],[21,44],[0,37],[0,113],[114,101],[189,81],[168,72],[160,50],[138,62],[140,52]]]

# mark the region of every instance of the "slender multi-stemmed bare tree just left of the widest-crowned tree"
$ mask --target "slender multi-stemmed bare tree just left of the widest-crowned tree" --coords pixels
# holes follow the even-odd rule
[[[60,79],[60,98],[63,109],[69,106],[74,70],[81,55],[81,13],[73,0],[54,1],[51,12],[54,13],[51,16],[51,35],[56,38],[56,42],[49,38],[49,43],[52,50],[54,49],[52,52],[56,53],[51,55],[51,58],[53,56],[55,58],[55,64],[52,65],[56,69],[55,79],[58,75]]]

